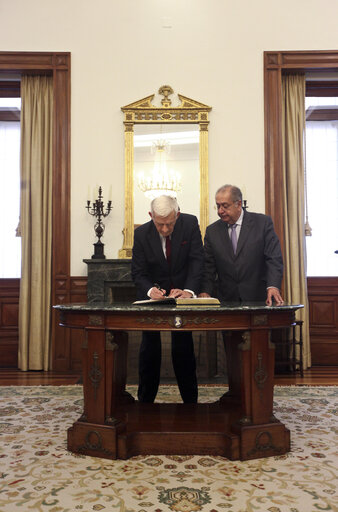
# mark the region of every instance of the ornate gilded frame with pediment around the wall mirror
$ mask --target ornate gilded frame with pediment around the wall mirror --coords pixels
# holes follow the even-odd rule
[[[131,258],[134,242],[134,125],[135,124],[198,124],[199,169],[200,169],[200,216],[202,236],[209,223],[209,158],[208,158],[208,112],[211,107],[196,100],[177,94],[180,105],[173,107],[169,95],[173,94],[169,85],[163,85],[158,94],[163,96],[161,106],[152,104],[155,94],[140,99],[125,107],[124,113],[124,169],[125,169],[125,206],[123,247],[119,258]],[[187,212],[189,213],[189,212]]]

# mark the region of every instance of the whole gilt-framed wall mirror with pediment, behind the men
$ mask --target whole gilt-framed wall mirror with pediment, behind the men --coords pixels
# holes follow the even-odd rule
[[[208,112],[211,107],[178,94],[170,86],[122,107],[125,126],[125,223],[119,258],[131,258],[134,228],[149,220],[151,199],[175,195],[183,212],[199,219],[202,236],[209,219]],[[160,177],[159,177],[160,176]],[[165,188],[163,188],[163,186]]]

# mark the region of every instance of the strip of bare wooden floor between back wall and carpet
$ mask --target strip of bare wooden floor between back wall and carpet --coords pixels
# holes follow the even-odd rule
[[[171,383],[175,381],[167,381]],[[163,382],[164,383],[164,382]],[[0,368],[0,386],[62,386],[81,384],[80,374],[8,370]],[[203,384],[222,384],[219,380],[205,380]],[[304,377],[299,373],[276,375],[277,386],[338,386],[337,366],[314,366],[304,371]]]

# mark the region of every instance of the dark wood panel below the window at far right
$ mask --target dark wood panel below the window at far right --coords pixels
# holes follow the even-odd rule
[[[338,365],[338,277],[308,277],[312,365]]]

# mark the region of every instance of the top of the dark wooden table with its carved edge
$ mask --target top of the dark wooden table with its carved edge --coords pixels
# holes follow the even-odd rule
[[[301,304],[268,307],[264,302],[222,303],[220,306],[92,302],[54,306],[60,325],[110,330],[247,330],[290,326]]]

